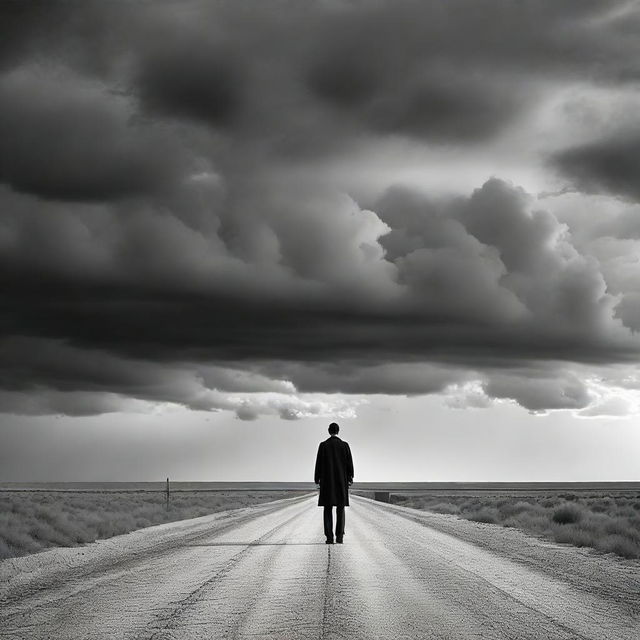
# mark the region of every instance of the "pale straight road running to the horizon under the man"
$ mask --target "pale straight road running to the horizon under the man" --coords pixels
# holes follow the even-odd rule
[[[5,561],[0,638],[640,637],[635,561],[355,496],[344,545],[321,520],[306,496]]]

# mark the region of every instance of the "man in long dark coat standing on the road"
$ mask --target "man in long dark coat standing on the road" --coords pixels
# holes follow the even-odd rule
[[[340,427],[332,422],[329,437],[320,443],[316,456],[315,483],[320,485],[318,506],[324,507],[324,534],[333,544],[333,507],[336,507],[336,542],[344,537],[344,508],[349,506],[349,485],[353,482],[353,459],[349,445],[338,438]]]

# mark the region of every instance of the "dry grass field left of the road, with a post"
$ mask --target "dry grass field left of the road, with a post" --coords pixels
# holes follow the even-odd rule
[[[295,491],[0,492],[0,559],[301,495]]]

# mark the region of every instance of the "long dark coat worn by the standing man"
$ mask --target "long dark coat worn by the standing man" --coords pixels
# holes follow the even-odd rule
[[[334,505],[349,506],[349,482],[353,480],[353,459],[349,445],[330,436],[318,447],[316,484],[320,484],[319,507]]]

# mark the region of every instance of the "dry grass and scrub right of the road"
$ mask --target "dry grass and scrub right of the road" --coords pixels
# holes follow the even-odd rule
[[[640,495],[536,496],[393,494],[391,502],[515,527],[556,542],[640,558]]]

